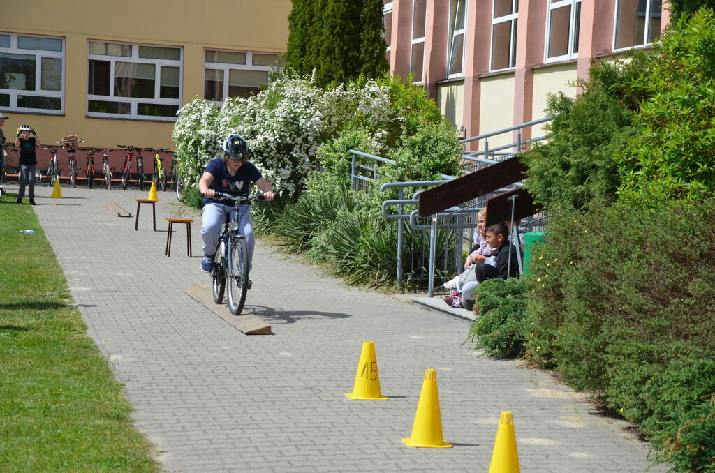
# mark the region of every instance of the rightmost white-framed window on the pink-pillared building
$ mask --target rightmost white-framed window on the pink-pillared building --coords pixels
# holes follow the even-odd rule
[[[661,0],[618,0],[613,49],[644,46],[661,33]]]

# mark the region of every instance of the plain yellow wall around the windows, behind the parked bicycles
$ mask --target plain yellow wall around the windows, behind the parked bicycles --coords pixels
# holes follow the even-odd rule
[[[35,0],[32,18],[0,15],[0,31],[65,39],[64,116],[6,111],[6,136],[20,124],[36,128],[43,144],[77,134],[86,146],[116,144],[173,149],[173,122],[89,118],[87,41],[183,46],[182,104],[203,95],[204,48],[284,52],[290,0]]]

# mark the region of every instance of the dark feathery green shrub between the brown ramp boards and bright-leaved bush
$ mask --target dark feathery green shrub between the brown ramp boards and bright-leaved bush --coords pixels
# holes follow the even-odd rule
[[[525,187],[546,209],[581,209],[588,202],[608,205],[621,184],[616,154],[635,132],[637,109],[628,84],[648,61],[643,53],[631,61],[593,64],[588,81],[578,83],[576,99],[563,93],[548,98],[544,126],[548,144],[521,156],[528,167]]]

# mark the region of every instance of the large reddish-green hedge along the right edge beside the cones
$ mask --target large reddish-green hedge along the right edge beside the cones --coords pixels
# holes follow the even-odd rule
[[[526,277],[528,356],[641,422],[658,460],[713,471],[713,407],[702,396],[715,393],[715,203],[555,211],[546,237]]]

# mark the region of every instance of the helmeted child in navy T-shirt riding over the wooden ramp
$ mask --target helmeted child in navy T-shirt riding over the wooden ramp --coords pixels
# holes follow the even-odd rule
[[[223,143],[223,159],[212,159],[206,166],[206,171],[199,180],[199,191],[204,196],[201,237],[204,242],[204,259],[201,269],[210,273],[216,251],[216,244],[221,233],[221,226],[228,212],[234,214],[234,201],[217,199],[216,192],[224,192],[233,196],[245,195],[250,191],[251,184],[256,184],[263,191],[265,200],[273,200],[273,188],[260,171],[248,161],[248,144],[240,135],[230,134]],[[241,234],[246,237],[248,247],[249,269],[255,247],[253,236],[253,221],[250,206],[245,205],[245,211],[239,215],[231,215],[239,221]]]

